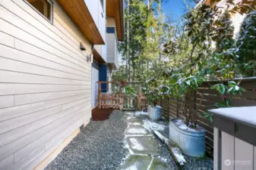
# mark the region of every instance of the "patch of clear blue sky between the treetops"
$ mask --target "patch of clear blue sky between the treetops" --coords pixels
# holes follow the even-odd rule
[[[187,2],[194,6],[194,2],[187,0]],[[182,14],[184,14],[185,3],[184,0],[167,0],[167,2],[163,2],[163,12],[168,16],[172,14],[172,19],[178,21]]]

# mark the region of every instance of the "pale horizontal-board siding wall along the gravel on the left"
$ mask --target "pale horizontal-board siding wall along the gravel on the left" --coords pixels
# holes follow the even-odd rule
[[[35,168],[90,119],[90,49],[57,2],[52,24],[0,1],[0,169]]]

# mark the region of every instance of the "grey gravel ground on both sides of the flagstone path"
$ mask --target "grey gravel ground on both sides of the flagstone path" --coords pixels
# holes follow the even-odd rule
[[[127,123],[122,120],[124,114],[119,110],[114,110],[110,118],[103,122],[90,122],[81,133],[62,150],[62,153],[46,167],[46,170],[114,170],[124,162],[128,150],[125,148],[125,129]],[[147,119],[147,118],[144,118]],[[161,134],[168,138],[169,123],[165,121],[157,122],[166,125]],[[156,137],[155,137],[156,138]],[[204,158],[194,158],[186,156],[187,163],[184,167],[178,167],[174,159],[170,156],[166,146],[156,138],[160,159],[169,164],[170,170],[210,170],[213,169],[213,160]]]

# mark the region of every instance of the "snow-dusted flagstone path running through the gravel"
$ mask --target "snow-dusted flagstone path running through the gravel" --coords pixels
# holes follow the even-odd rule
[[[158,144],[153,134],[143,127],[143,119],[147,115],[134,116],[134,113],[125,113],[122,117],[128,123],[128,128],[125,130],[125,141],[130,152],[125,163],[117,168],[118,170],[125,169],[140,169],[140,170],[166,170],[169,165],[163,160],[157,158]]]

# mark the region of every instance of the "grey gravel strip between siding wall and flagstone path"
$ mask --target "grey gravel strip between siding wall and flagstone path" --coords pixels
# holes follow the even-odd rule
[[[127,155],[124,147],[127,124],[122,116],[121,111],[114,110],[106,121],[90,122],[46,170],[112,170],[118,167]]]

